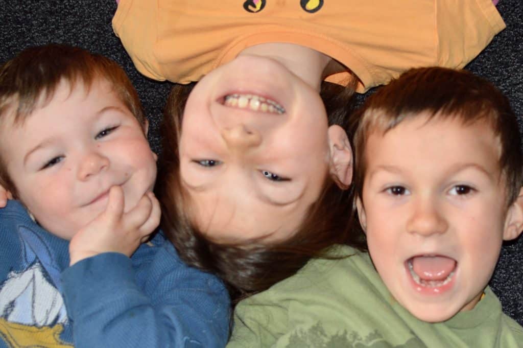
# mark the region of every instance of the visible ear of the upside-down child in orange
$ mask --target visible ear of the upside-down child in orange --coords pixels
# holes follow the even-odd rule
[[[345,130],[334,125],[328,128],[329,172],[341,189],[347,189],[353,181],[353,150]]]

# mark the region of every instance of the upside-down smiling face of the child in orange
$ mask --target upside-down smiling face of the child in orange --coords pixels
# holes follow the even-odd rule
[[[285,239],[321,193],[329,167],[322,99],[272,59],[243,55],[203,77],[181,128],[191,218],[213,240]]]

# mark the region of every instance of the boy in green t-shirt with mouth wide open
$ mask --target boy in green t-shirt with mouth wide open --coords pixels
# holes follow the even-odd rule
[[[368,253],[339,246],[240,302],[228,347],[523,347],[487,283],[523,228],[516,116],[491,83],[420,68],[355,115]]]

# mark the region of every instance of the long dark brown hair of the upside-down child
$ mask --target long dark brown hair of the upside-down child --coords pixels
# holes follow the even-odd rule
[[[178,141],[181,120],[191,85],[175,85],[165,109],[163,152],[156,185],[162,204],[162,228],[189,265],[212,272],[229,286],[233,300],[269,288],[296,273],[311,257],[324,256],[333,244],[350,244],[363,249],[361,240],[349,230],[352,189],[342,190],[325,178],[321,196],[309,207],[305,220],[290,239],[272,244],[220,244],[207,239],[188,218],[187,198],[180,183]],[[354,86],[324,82],[321,96],[329,124],[346,129]]]

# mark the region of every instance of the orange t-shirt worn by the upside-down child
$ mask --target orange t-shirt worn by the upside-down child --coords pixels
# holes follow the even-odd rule
[[[155,80],[198,81],[246,47],[290,42],[347,66],[358,92],[418,66],[462,68],[505,28],[492,0],[121,0],[112,25]]]

